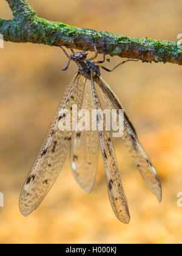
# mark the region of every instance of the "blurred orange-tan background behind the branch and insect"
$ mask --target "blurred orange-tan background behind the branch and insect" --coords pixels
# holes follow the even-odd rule
[[[181,30],[180,0],[30,0],[37,15],[70,26],[89,27],[129,37],[177,41]],[[12,19],[1,0],[0,17]],[[18,199],[25,177],[75,63],[56,47],[4,43],[0,49],[0,243],[181,243],[182,207],[182,77],[181,66],[129,62],[114,73],[102,72],[123,103],[138,137],[150,156],[163,187],[163,201],[147,189],[123,141],[115,151],[131,220],[118,221],[107,195],[99,152],[95,187],[86,194],[66,160],[58,180],[39,208],[25,218]],[[108,67],[121,62],[111,58]]]

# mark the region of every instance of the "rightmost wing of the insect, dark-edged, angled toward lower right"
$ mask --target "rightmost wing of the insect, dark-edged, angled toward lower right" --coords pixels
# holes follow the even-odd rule
[[[102,77],[98,77],[98,85],[108,108],[116,108],[116,110],[123,109],[120,101]],[[117,113],[119,113],[119,111]],[[131,127],[130,124],[129,119],[124,115],[123,141],[133,158],[133,162],[135,162],[136,166],[140,170],[141,176],[143,177],[147,187],[153,192],[153,194],[155,194],[155,196],[157,196],[158,201],[161,202],[160,178],[158,177],[152,162],[141,146],[140,141],[136,137],[135,130],[133,130],[133,127]]]

